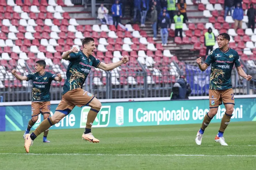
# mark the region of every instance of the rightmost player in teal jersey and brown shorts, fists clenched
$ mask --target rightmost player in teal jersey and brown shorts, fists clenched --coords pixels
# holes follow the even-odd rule
[[[201,64],[201,57],[196,60],[201,71],[205,71],[209,65],[211,65],[209,87],[210,110],[205,115],[202,126],[197,132],[195,139],[197,145],[201,145],[205,128],[207,128],[212,118],[217,114],[218,107],[223,102],[226,112],[222,117],[220,129],[215,137],[215,141],[220,143],[220,145],[228,146],[223,137],[223,133],[230,122],[235,105],[235,98],[231,83],[231,72],[234,64],[241,77],[245,78],[247,81],[252,79],[252,76],[247,75],[243,71],[238,53],[229,48],[229,41],[230,36],[227,33],[221,33],[218,35],[217,39],[219,48],[210,52],[205,63]]]

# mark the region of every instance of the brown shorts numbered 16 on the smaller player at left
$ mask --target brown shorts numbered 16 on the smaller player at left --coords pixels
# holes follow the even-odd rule
[[[51,110],[51,103],[50,101],[39,101],[39,102],[32,102],[31,104],[31,115],[32,117],[38,116],[38,114],[50,114]]]

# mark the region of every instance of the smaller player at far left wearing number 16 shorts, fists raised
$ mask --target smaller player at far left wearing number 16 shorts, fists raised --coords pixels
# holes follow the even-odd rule
[[[62,80],[61,74],[58,73],[57,76],[53,75],[47,71],[45,71],[46,63],[44,60],[36,61],[35,70],[36,72],[30,73],[26,76],[18,75],[16,69],[12,70],[12,74],[18,80],[32,80],[33,88],[32,88],[32,104],[31,104],[31,113],[32,117],[28,122],[28,127],[24,132],[23,138],[25,135],[30,132],[32,126],[38,120],[38,115],[43,114],[44,119],[47,119],[50,116],[50,87],[51,81],[55,80],[60,82]],[[49,143],[50,141],[47,140],[49,129],[44,131],[43,142]]]

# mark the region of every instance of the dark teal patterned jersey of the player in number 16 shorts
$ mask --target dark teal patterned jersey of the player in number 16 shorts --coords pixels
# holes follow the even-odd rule
[[[45,72],[42,76],[38,73],[30,73],[26,75],[28,80],[32,80],[32,102],[33,101],[50,101],[50,87],[51,81],[54,80],[56,75]]]

